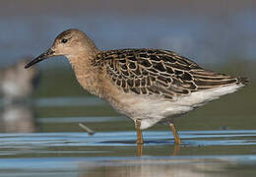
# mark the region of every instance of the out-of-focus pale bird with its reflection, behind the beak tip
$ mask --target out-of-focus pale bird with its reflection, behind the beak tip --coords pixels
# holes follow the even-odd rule
[[[32,93],[37,87],[39,71],[24,69],[29,59],[0,71],[0,131],[26,133],[36,131],[32,110]]]

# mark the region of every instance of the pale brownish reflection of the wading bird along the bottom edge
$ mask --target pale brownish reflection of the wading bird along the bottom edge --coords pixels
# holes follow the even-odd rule
[[[215,177],[226,176],[230,167],[237,168],[230,159],[218,158],[124,158],[81,162],[80,175],[86,177]],[[228,173],[230,174],[230,173]],[[231,173],[230,176],[239,176]]]

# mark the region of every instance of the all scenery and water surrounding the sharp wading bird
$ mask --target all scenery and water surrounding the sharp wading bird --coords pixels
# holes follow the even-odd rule
[[[255,10],[255,0],[1,0],[0,176],[253,176]],[[66,58],[24,69],[71,28],[99,49],[173,50],[250,85],[175,119],[180,146],[156,125],[137,147],[133,121],[82,89]]]

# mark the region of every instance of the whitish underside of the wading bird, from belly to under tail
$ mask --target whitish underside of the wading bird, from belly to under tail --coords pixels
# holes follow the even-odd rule
[[[156,95],[138,95],[125,93],[115,96],[115,102],[110,102],[120,113],[136,120],[141,119],[141,128],[147,129],[160,121],[166,121],[177,115],[184,114],[206,102],[237,90],[238,86],[220,89],[208,89],[179,96],[173,100]]]

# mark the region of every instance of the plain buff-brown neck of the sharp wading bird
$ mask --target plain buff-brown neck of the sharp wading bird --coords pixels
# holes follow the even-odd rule
[[[91,55],[69,56],[68,59],[79,84],[90,93],[102,97],[100,70],[92,65],[96,53]]]

